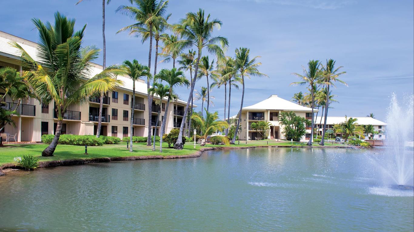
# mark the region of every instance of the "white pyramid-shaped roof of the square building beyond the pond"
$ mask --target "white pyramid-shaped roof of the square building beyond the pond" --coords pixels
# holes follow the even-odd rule
[[[312,108],[300,106],[294,102],[289,102],[277,95],[270,95],[269,98],[254,105],[243,107],[243,110],[281,110],[281,111],[312,111]],[[314,109],[314,111],[318,111]]]

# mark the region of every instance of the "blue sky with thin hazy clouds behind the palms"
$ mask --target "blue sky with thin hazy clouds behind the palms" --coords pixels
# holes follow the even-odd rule
[[[53,21],[60,11],[76,19],[76,28],[87,24],[83,45],[102,47],[102,5],[99,0],[14,0],[2,1],[0,31],[34,42],[38,35],[31,18]],[[116,32],[133,23],[116,13],[128,0],[112,0],[106,6],[106,64],[120,64],[125,59],[137,59],[148,64],[148,43],[128,33]],[[15,10],[19,6],[18,10]],[[374,113],[385,120],[392,92],[399,99],[414,92],[414,14],[412,0],[171,0],[169,22],[176,23],[187,12],[199,8],[223,22],[216,36],[228,38],[226,53],[234,55],[237,47],[247,47],[251,56],[260,56],[259,71],[268,77],[252,77],[245,81],[243,106],[260,102],[276,94],[291,99],[294,93],[306,92],[306,86],[289,86],[302,73],[310,59],[326,62],[335,59],[347,73],[332,90],[339,103],[332,104],[329,116],[366,116]],[[207,55],[207,51],[203,51]],[[153,55],[154,57],[154,55]],[[210,54],[210,57],[214,57]],[[211,58],[210,58],[211,59]],[[95,60],[101,64],[102,58]],[[152,72],[154,60],[152,61]],[[171,63],[159,64],[172,68]],[[189,77],[189,73],[187,73]],[[196,89],[206,86],[205,78]],[[189,90],[177,89],[178,96],[187,100]],[[224,116],[224,90],[213,89],[214,107]],[[232,90],[231,115],[240,109],[241,91]],[[195,102],[201,106],[201,102]]]

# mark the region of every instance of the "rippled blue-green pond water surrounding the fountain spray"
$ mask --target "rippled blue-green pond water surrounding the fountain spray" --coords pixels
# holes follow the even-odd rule
[[[375,152],[375,150],[367,150]],[[360,150],[256,148],[0,178],[0,231],[413,231]]]

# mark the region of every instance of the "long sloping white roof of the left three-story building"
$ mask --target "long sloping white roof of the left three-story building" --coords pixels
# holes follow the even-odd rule
[[[35,59],[37,62],[40,62],[39,59],[37,59],[36,56],[36,50],[37,50],[37,43],[34,43],[30,40],[25,40],[23,38],[17,37],[17,36],[13,36],[10,35],[8,33],[2,32],[0,31],[0,54],[9,54],[12,55],[14,58],[18,58],[21,56],[19,50],[15,47],[13,47],[12,45],[10,45],[10,43],[12,42],[17,42],[19,45],[21,45],[23,47],[23,49],[29,53],[29,55]],[[96,74],[100,73],[102,71],[102,66],[99,64],[95,64],[93,63],[94,66],[92,67],[91,70],[91,76],[95,76]],[[90,78],[88,77],[88,78]],[[132,80],[128,77],[125,76],[117,76],[118,80],[122,80],[124,82],[123,86],[120,86],[121,88],[125,89],[125,90],[129,90],[132,91]],[[135,92],[142,94],[142,95],[147,95],[147,83],[145,83],[144,80],[139,80],[135,82]],[[183,104],[187,104],[187,102],[178,99],[177,102],[183,103]],[[193,105],[194,107],[197,107],[196,105]]]

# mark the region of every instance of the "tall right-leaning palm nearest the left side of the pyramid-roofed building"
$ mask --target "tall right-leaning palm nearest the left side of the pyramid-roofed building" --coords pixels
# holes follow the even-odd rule
[[[262,65],[261,62],[256,63],[256,59],[260,56],[253,57],[250,59],[250,49],[246,47],[236,48],[236,57],[234,59],[235,65],[234,70],[241,76],[242,92],[241,92],[241,104],[240,111],[238,112],[238,120],[236,126],[236,132],[234,133],[231,144],[234,144],[236,141],[236,135],[238,132],[238,127],[241,122],[241,110],[243,109],[243,100],[244,100],[244,77],[250,78],[250,76],[267,76],[264,73],[259,72],[258,68]]]

